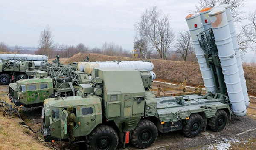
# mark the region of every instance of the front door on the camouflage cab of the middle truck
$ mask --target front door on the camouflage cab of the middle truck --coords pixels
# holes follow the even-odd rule
[[[27,85],[27,99],[29,103],[39,100],[38,87],[36,84]]]

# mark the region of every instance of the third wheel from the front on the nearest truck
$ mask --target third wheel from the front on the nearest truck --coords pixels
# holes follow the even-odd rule
[[[183,134],[186,137],[197,136],[204,126],[204,119],[198,113],[190,115],[189,119],[186,120],[186,124],[183,125]]]

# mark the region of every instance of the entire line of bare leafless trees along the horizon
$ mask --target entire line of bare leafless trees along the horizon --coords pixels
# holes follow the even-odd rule
[[[198,5],[195,6],[196,10],[191,12],[199,12],[206,7],[214,8],[221,4],[230,4],[239,48],[243,56],[249,50],[256,52],[256,10],[241,11],[245,3],[246,0],[199,0]],[[134,24],[136,36],[133,48],[138,51],[140,58],[197,61],[189,31],[182,30],[175,33],[170,17],[155,5],[147,8],[141,14],[140,20]],[[8,45],[0,42],[0,51],[8,52]],[[16,45],[15,52],[19,51],[20,48]],[[53,58],[55,55],[72,57],[77,53],[131,57],[131,49],[124,49],[121,45],[113,42],[105,42],[101,47],[94,48],[83,43],[78,43],[78,45],[55,43],[49,25],[41,32],[38,39],[38,50],[35,51],[35,54],[47,54],[49,58]]]

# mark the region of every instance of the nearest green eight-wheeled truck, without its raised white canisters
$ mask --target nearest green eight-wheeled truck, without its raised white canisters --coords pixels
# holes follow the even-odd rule
[[[44,101],[43,131],[46,142],[68,141],[67,107],[74,106],[77,142],[88,150],[114,150],[118,142],[149,147],[158,131],[182,130],[197,136],[209,126],[221,131],[232,111],[228,97],[216,92],[205,96],[155,97],[149,71],[129,68],[94,68],[92,80],[80,84],[78,96]]]

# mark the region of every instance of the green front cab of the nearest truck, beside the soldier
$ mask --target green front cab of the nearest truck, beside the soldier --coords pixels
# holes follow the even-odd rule
[[[44,122],[44,139],[46,142],[69,138],[67,132],[67,106],[74,107],[76,116],[74,134],[76,137],[87,136],[102,123],[102,98],[99,96],[73,96],[68,99],[55,97],[44,101],[42,118]]]

